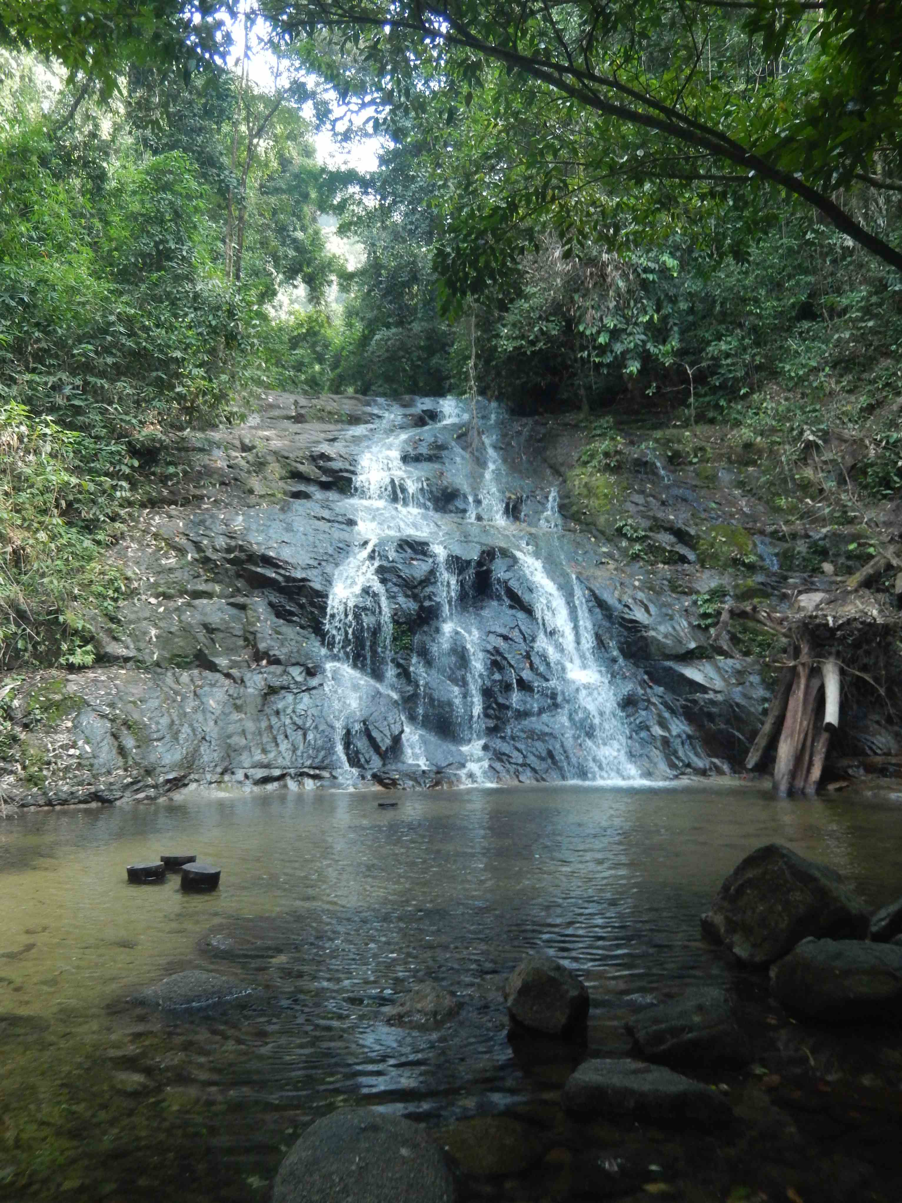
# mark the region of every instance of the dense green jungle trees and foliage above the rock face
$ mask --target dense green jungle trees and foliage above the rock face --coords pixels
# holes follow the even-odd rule
[[[902,490],[897,2],[0,0],[0,46],[6,663],[90,660],[103,544],[263,385],[682,407]]]

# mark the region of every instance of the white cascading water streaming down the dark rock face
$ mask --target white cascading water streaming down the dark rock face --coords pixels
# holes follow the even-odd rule
[[[479,454],[473,455],[465,446],[469,439],[462,445],[462,437],[473,433],[464,404],[453,398],[422,404],[420,413],[435,419],[429,427],[433,434],[407,425],[409,411],[387,411],[360,457],[348,503],[355,511],[357,546],[336,571],[326,617],[326,644],[337,658],[327,689],[339,746],[346,740],[342,731],[352,721],[361,680],[370,678],[403,705],[400,755],[408,763],[426,765],[427,743],[440,740],[443,748],[457,749],[453,771],[458,780],[502,776],[503,769],[492,768],[492,739],[502,735],[509,743],[517,742],[522,707],[523,715],[533,722],[541,719],[550,733],[554,747],[548,760],[556,776],[635,778],[582,586],[569,573],[556,583],[542,562],[542,556],[554,553],[553,538],[560,531],[557,491],[548,497],[541,531],[533,532],[544,543],[552,540],[540,553],[527,531],[509,517],[512,494],[505,493],[492,421],[480,423]],[[428,438],[434,435],[444,440],[451,470],[443,467],[431,475],[420,464],[429,460]],[[435,481],[447,490],[450,475],[459,485],[457,516],[441,512],[433,499]],[[487,549],[479,562],[488,565],[483,568],[488,585],[486,579],[476,582],[471,565],[462,577],[459,557],[451,550],[474,533]],[[491,562],[499,555],[527,582],[535,626],[529,650],[520,653],[529,665],[529,695],[516,663],[502,669],[509,706],[503,731],[497,723],[489,729],[485,713],[492,670],[498,669],[498,656],[487,651],[486,614],[498,593],[491,582]],[[425,617],[416,630],[393,621],[386,587],[392,574],[415,561],[428,562],[420,577],[428,598],[419,599]],[[348,768],[352,776],[355,769],[350,763]]]

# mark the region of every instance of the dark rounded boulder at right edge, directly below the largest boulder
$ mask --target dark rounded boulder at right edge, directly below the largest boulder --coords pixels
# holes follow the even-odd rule
[[[902,948],[806,940],[771,968],[771,991],[811,1019],[902,1021]]]

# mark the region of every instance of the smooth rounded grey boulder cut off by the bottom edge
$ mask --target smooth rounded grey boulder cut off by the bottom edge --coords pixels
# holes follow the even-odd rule
[[[369,1107],[309,1127],[275,1178],[273,1203],[453,1203],[455,1184],[426,1132]]]

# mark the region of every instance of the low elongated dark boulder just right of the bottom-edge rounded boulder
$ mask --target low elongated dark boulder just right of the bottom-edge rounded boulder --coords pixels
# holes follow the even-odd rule
[[[732,1108],[718,1091],[660,1065],[583,1061],[564,1086],[571,1115],[607,1115],[660,1124],[729,1124]]]

